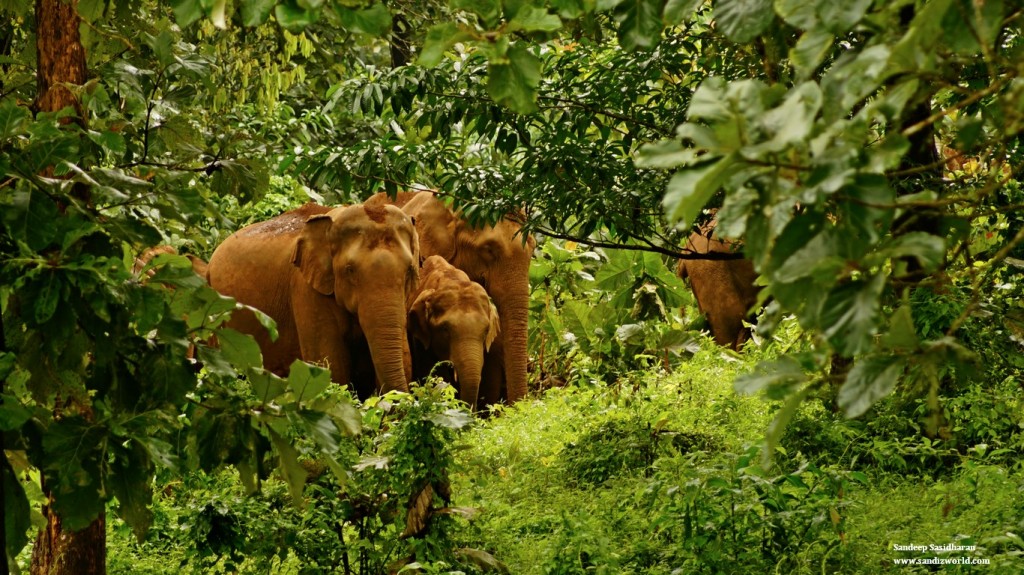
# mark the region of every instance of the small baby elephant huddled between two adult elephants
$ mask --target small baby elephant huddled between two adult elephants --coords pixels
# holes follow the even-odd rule
[[[409,301],[413,378],[427,375],[438,361],[451,361],[459,399],[476,410],[483,356],[501,325],[486,291],[444,258],[430,256]]]

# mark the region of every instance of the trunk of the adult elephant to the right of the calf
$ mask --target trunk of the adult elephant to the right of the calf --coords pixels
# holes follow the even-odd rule
[[[495,283],[494,300],[501,317],[507,401],[526,397],[526,339],[529,315],[529,259],[509,266]]]

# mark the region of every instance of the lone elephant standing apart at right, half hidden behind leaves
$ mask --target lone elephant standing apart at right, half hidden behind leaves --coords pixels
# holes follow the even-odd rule
[[[694,254],[732,254],[741,246],[715,236],[717,220],[690,234],[686,250]],[[711,334],[720,346],[738,351],[750,336],[743,320],[758,302],[760,285],[754,263],[745,258],[732,260],[679,260],[676,273],[689,279],[697,308],[708,318]]]

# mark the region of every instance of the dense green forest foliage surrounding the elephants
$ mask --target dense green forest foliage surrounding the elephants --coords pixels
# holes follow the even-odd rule
[[[38,14],[0,3],[9,557],[48,503],[72,530],[116,514],[112,569],[866,569],[907,474],[944,500],[922,532],[1019,561],[1016,3],[72,5],[89,80],[47,112]],[[534,383],[581,388],[461,458],[450,390],[359,406],[323,369],[268,374],[185,258],[136,265],[421,187],[523,215]],[[667,265],[707,208],[765,285],[745,357],[709,351]]]

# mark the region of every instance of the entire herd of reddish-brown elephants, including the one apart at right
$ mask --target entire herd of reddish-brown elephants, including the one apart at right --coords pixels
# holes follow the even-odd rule
[[[691,234],[694,254],[725,253],[714,222]],[[474,226],[433,192],[378,193],[362,204],[306,204],[229,235],[209,263],[190,257],[210,285],[259,309],[228,326],[256,339],[267,369],[296,359],[325,365],[359,397],[408,391],[434,369],[473,409],[526,395],[528,271],[536,241],[504,218]],[[160,253],[147,250],[136,267]],[[739,349],[757,302],[749,260],[684,259],[712,335]],[[447,361],[451,367],[435,367]]]

